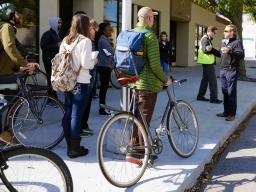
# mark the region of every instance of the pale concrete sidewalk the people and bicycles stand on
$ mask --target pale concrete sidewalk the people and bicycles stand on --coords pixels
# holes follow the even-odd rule
[[[250,64],[250,65],[253,65]],[[211,160],[212,155],[217,151],[220,145],[234,131],[237,125],[250,112],[256,104],[256,83],[238,82],[238,112],[236,120],[226,122],[222,118],[217,118],[216,113],[223,111],[222,104],[211,104],[208,102],[196,101],[196,95],[201,79],[201,67],[194,68],[175,68],[172,75],[176,79],[187,78],[188,82],[181,87],[176,87],[176,96],[178,99],[188,101],[195,109],[200,126],[200,139],[196,152],[188,159],[178,157],[171,149],[167,137],[163,138],[164,150],[155,162],[153,168],[147,169],[141,180],[129,189],[120,189],[112,186],[104,178],[100,171],[96,146],[98,133],[101,126],[107,119],[98,115],[98,100],[94,100],[90,116],[90,128],[95,131],[95,135],[83,139],[82,144],[90,149],[89,155],[74,160],[66,156],[66,145],[62,142],[54,150],[57,152],[69,166],[75,192],[171,192],[184,191],[184,189],[195,184],[201,174],[204,165]],[[248,68],[248,75],[256,77],[256,69]],[[218,80],[218,83],[219,80]],[[219,84],[219,98],[222,99],[222,93]],[[111,106],[118,106],[120,91],[111,89],[108,92],[107,103]],[[209,93],[207,95],[209,98]],[[158,126],[161,115],[165,109],[167,95],[162,92],[158,96],[151,127]]]

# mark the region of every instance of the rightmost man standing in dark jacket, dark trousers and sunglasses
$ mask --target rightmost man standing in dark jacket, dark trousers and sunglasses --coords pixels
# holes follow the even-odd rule
[[[244,58],[243,44],[237,38],[235,25],[227,25],[224,30],[224,40],[221,46],[220,80],[224,97],[224,112],[218,117],[225,117],[226,121],[233,121],[237,109],[237,78],[240,61]]]

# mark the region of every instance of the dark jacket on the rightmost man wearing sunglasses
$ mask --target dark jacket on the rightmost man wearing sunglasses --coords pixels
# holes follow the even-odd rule
[[[240,61],[244,58],[244,49],[242,42],[237,38],[232,38],[227,41],[223,40],[221,48],[228,47],[230,51],[228,53],[221,54],[220,66],[226,70],[238,70]]]

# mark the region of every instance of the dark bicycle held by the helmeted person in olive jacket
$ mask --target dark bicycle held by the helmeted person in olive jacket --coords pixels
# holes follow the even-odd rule
[[[63,104],[48,95],[48,87],[39,87],[35,91],[25,80],[30,74],[25,72],[22,77],[14,75],[16,83],[0,83],[0,90],[16,90],[15,95],[7,95],[10,102],[2,109],[7,111],[5,127],[13,134],[15,140],[25,146],[52,149],[64,138],[62,129]],[[4,79],[4,78],[3,78]]]

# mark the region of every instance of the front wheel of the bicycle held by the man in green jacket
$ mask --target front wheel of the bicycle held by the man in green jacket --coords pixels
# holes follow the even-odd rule
[[[185,101],[177,103],[169,110],[167,135],[175,153],[183,158],[190,157],[196,150],[199,128],[195,111]]]

